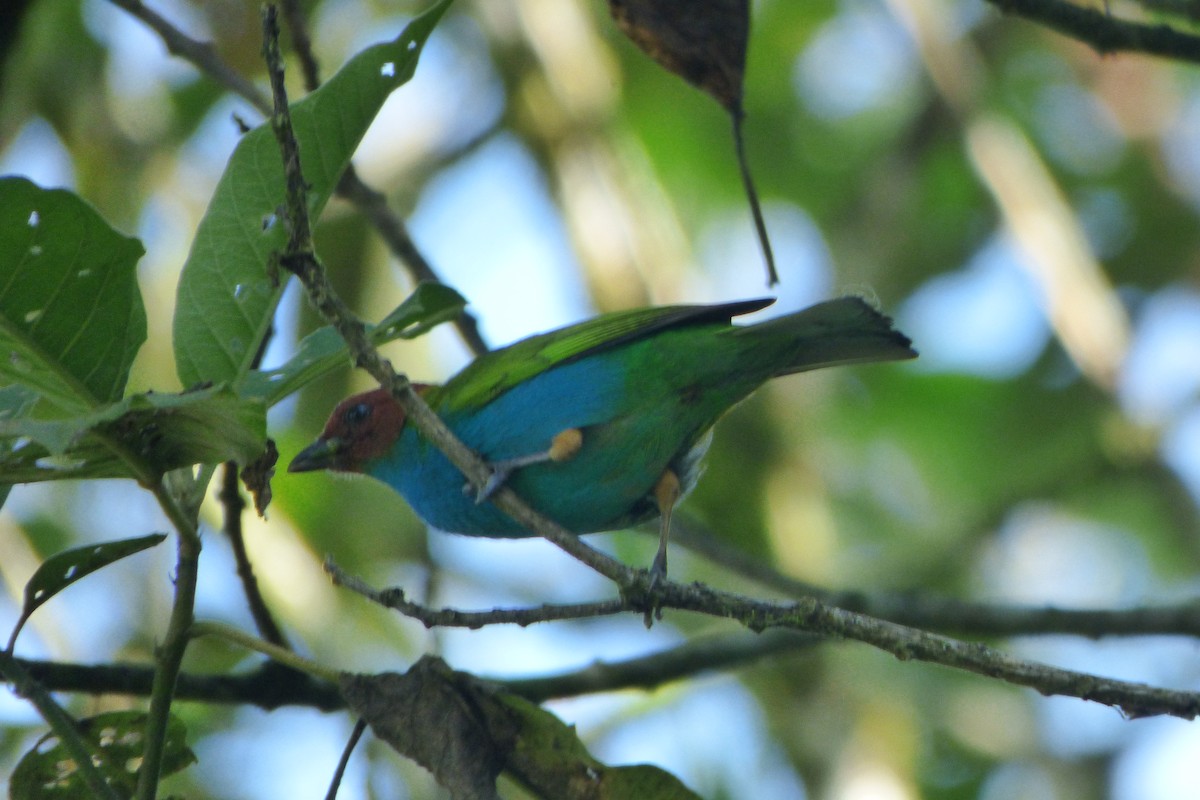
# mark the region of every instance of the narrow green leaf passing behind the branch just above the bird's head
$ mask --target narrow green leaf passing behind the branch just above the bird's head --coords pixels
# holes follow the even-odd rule
[[[378,325],[367,329],[374,344],[397,338],[421,336],[434,325],[454,319],[467,305],[457,291],[440,283],[419,283],[416,289]],[[275,405],[305,384],[344,365],[349,360],[346,342],[326,325],[304,337],[298,353],[276,369],[246,373],[241,393]]]

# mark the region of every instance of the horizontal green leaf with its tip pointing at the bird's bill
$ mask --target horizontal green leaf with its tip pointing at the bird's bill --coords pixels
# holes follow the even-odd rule
[[[140,477],[122,452],[160,474],[229,459],[248,463],[265,443],[265,405],[227,387],[133,395],[68,419],[0,420],[0,483]]]

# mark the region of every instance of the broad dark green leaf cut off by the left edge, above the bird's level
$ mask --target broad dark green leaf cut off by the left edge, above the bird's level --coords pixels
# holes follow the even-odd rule
[[[0,383],[67,411],[120,398],[146,337],[144,252],[71,192],[0,179]]]

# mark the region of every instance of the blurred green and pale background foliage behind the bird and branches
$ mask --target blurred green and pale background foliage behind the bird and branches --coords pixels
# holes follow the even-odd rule
[[[412,4],[397,8],[355,0],[301,5],[325,77],[368,43],[395,36],[403,16],[418,11]],[[780,218],[776,211],[799,210],[830,263],[814,276],[781,259],[781,294],[810,282],[829,294],[868,291],[906,326],[913,321],[911,309],[930,308],[916,297],[944,288],[940,279],[964,277],[990,245],[1010,241],[1012,219],[994,200],[967,142],[972,120],[994,115],[1032,144],[1075,212],[1103,264],[1110,284],[1104,291],[1120,297],[1128,314],[1134,347],[1126,357],[1145,356],[1139,350],[1146,341],[1145,312],[1156,300],[1175,300],[1200,314],[1195,70],[1140,55],[1100,58],[988,6],[940,2],[936,13],[953,34],[940,47],[970,65],[959,76],[971,84],[964,103],[931,77],[913,44],[913,31],[918,38],[932,36],[922,28],[928,20],[912,13],[924,5],[754,4],[744,131],[768,225]],[[550,6],[488,0],[452,7],[414,85],[395,101],[408,104],[382,122],[391,128],[373,142],[368,137],[370,151],[359,160],[364,179],[402,216],[420,217],[439,179],[474,163],[488,143],[515,142],[536,166],[530,182],[553,201],[556,216],[539,224],[547,237],[568,231],[574,245],[557,267],[569,283],[589,290],[593,307],[569,313],[763,293],[758,260],[714,263],[710,252],[720,249],[712,242],[751,241],[725,112],[624,41],[604,4],[556,0],[553,11]],[[222,60],[263,83],[253,4],[180,0],[166,4],[162,13],[211,38]],[[131,46],[133,31],[139,38]],[[840,49],[816,49],[839,31]],[[871,66],[880,53],[894,56],[888,74]],[[840,55],[822,61],[814,54]],[[150,332],[131,385],[181,389],[170,350],[175,285],[236,144],[235,116],[256,125],[257,113],[193,67],[167,58],[140,23],[101,0],[34,0],[0,59],[0,164],[42,185],[44,175],[73,184],[104,219],[142,239],[148,252],[139,281]],[[422,88],[426,71],[436,83]],[[468,73],[484,76],[484,88],[457,83],[468,82]],[[298,76],[292,59],[294,97],[302,95]],[[878,86],[864,90],[862,80]],[[862,91],[863,100],[833,114],[820,91],[847,103]],[[473,102],[460,102],[464,96]],[[500,113],[490,112],[488,103]],[[468,199],[462,198],[464,206]],[[335,284],[364,317],[380,319],[410,291],[412,281],[349,204],[334,200],[324,213],[317,245]],[[466,228],[468,221],[461,222]],[[445,239],[458,235],[431,230]],[[487,260],[490,248],[498,249],[493,242],[474,242],[479,263],[473,264],[439,263],[443,242],[418,236],[416,243],[434,269],[454,276],[448,279],[485,326],[490,317],[514,308],[530,318],[524,333],[552,324],[542,319],[557,319],[522,306],[530,291],[521,284],[527,273],[521,264]],[[730,252],[755,251],[751,242]],[[1003,269],[1020,275],[1018,282],[1028,289],[1021,301],[1043,314],[1045,287],[1027,269],[1030,255],[1006,253]],[[504,296],[490,282],[496,276],[511,284]],[[986,308],[986,299],[972,297],[979,305],[971,307]],[[564,307],[572,302],[563,299]],[[318,321],[294,297],[283,308],[277,338],[286,354]],[[929,353],[924,365],[805,375],[772,386],[719,426],[707,476],[685,510],[725,546],[832,589],[1102,607],[1188,599],[1200,566],[1196,438],[1188,438],[1188,421],[1194,429],[1196,419],[1200,350],[1180,333],[1154,354],[1158,372],[1150,373],[1150,383],[1183,389],[1147,411],[1130,399],[1136,395],[1132,371],[1120,372],[1115,385],[1090,379],[1054,335],[1057,320],[1049,317],[1051,335],[1033,336],[1032,351],[1002,369],[989,366],[986,349],[978,357],[947,356],[958,331],[932,320],[923,330],[940,339],[917,342]],[[1001,318],[997,337],[1015,336],[1006,325],[1016,324]],[[409,374],[438,379],[466,357],[452,338],[439,331],[388,345],[386,353]],[[361,375],[344,371],[311,384],[298,403],[272,414],[271,435],[283,458],[312,438],[337,399],[364,385]],[[95,503],[101,492],[126,491],[116,483],[102,483],[96,493],[71,486],[14,491],[0,528],[0,578],[8,594],[19,597],[37,561],[53,552],[161,528],[136,503]],[[215,505],[205,518],[218,524]],[[530,628],[503,636],[431,633],[397,621],[330,588],[319,566],[324,555],[377,585],[401,583],[416,597],[427,593],[433,604],[487,608],[577,600],[576,589],[588,596],[606,589],[576,582],[553,553],[539,552],[536,569],[506,561],[520,557],[504,553],[527,553],[518,549],[526,545],[481,543],[484,555],[464,555],[461,541],[426,534],[397,497],[367,481],[280,475],[269,519],[247,521],[247,527],[264,593],[284,627],[313,657],[344,669],[400,668],[422,652],[443,650],[452,663],[461,658],[454,666],[481,674],[511,673],[514,664],[521,674],[540,674],[616,660],[631,651],[630,640],[641,640],[634,637],[648,637],[644,648],[632,646],[641,652],[718,626],[668,615],[665,630],[672,633],[658,638],[643,633],[640,620],[614,632],[556,624],[556,633]],[[209,531],[205,547],[202,579],[210,584],[202,588],[198,614],[248,626],[223,539]],[[617,535],[614,547],[622,554],[649,552],[638,534]],[[80,633],[95,612],[72,607],[73,595],[65,593],[44,619],[34,618],[23,639],[36,639],[42,655],[61,661],[149,660],[170,593],[169,553],[154,558],[150,569],[143,561],[136,571],[114,572],[124,585],[110,597],[102,595],[112,603],[104,613],[110,636],[97,642]],[[672,570],[677,565],[684,570],[674,576],[680,579],[762,593],[720,564],[672,557]],[[0,607],[0,619],[16,619],[18,610]],[[604,651],[618,642],[619,652]],[[1052,643],[1022,639],[1020,648],[1031,657],[1056,654]],[[1141,648],[1128,644],[1130,651]],[[575,650],[582,655],[571,661]],[[1097,648],[1073,666],[1196,685],[1194,667],[1172,664],[1168,656],[1134,652],[1114,663],[1112,654]],[[239,661],[248,663],[204,643],[193,648],[186,667],[228,670]],[[707,745],[684,736],[698,736],[692,730],[679,734],[697,750],[690,758],[676,753],[668,768],[703,796],[750,796],[746,787],[762,781],[803,786],[814,798],[883,796],[872,789],[937,800],[1133,798],[1128,778],[1120,778],[1130,753],[1150,733],[1165,727],[1175,734],[1184,726],[1172,721],[1152,728],[1159,723],[1123,721],[1108,710],[1093,715],[1074,700],[1063,711],[1068,702],[1051,704],[1032,692],[846,644],[773,657],[722,686],[752,698],[756,738],[733,747],[722,741],[726,730],[714,732]],[[661,730],[648,721],[664,706],[684,703],[689,691],[689,685],[665,688],[592,716],[570,703],[556,710],[569,721],[580,715],[581,734],[598,758],[607,759],[610,750],[614,758],[625,757],[623,733],[641,741],[649,759],[661,750],[659,742],[636,739],[640,727]],[[91,702],[72,703],[80,711]],[[224,759],[246,741],[239,730],[253,736],[266,724],[263,715],[184,709],[200,763],[170,778],[173,793],[276,796],[264,787],[280,780],[271,769],[282,762],[264,759],[256,765],[263,775],[246,777],[245,784],[220,778]],[[0,774],[11,771],[42,732],[36,721],[6,714],[0,764],[8,769]],[[305,717],[304,724],[329,726],[323,730],[331,727],[334,738],[348,728],[329,717]],[[1085,736],[1085,729],[1100,733]],[[286,751],[288,733],[272,729],[265,739],[278,739]],[[748,753],[760,760],[748,762]],[[353,777],[348,796],[439,796],[427,776],[383,748],[370,748],[365,760],[367,769]],[[331,770],[332,762],[323,774]],[[521,796],[514,787],[506,792]]]

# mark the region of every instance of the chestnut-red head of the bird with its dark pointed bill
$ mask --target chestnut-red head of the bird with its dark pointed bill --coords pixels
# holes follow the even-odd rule
[[[426,386],[414,384],[416,391]],[[404,409],[386,389],[347,397],[337,404],[325,431],[292,459],[289,473],[332,469],[361,473],[368,462],[385,456],[404,428]]]

